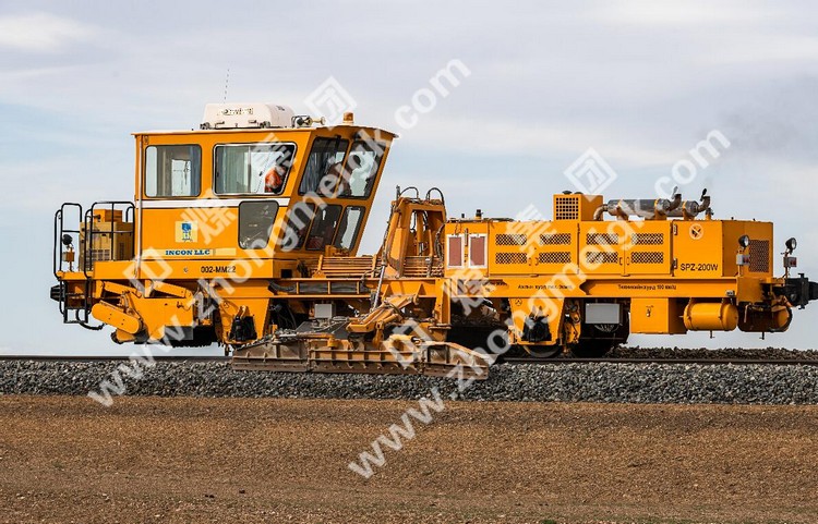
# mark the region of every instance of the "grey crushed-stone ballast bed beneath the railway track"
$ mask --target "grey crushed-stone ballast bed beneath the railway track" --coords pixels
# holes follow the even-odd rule
[[[113,398],[249,397],[467,401],[818,404],[818,366],[501,364],[458,393],[453,379],[359,374],[236,371],[226,362],[0,362],[0,394],[100,393]],[[121,386],[120,386],[121,385]]]

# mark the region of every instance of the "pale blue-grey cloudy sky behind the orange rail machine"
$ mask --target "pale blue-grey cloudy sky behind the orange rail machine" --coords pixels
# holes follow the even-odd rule
[[[437,71],[435,94],[407,129]],[[588,148],[618,178],[608,197],[655,195],[657,180],[713,130],[730,147],[695,180],[718,217],[771,220],[818,277],[818,8],[810,2],[40,2],[0,4],[0,350],[110,351],[62,326],[48,300],[52,216],[64,200],[133,197],[130,133],[190,129],[203,107],[270,101],[306,112],[334,77],[359,122],[400,133],[363,249],[376,248],[395,185],[436,185],[449,215],[515,216],[574,188]],[[428,92],[424,92],[428,93]],[[406,113],[405,113],[406,114]],[[780,271],[780,260],[777,260]],[[818,305],[790,332],[639,344],[817,344]]]

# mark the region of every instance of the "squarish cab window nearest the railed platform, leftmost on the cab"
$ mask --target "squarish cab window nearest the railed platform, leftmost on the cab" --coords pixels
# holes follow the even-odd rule
[[[197,196],[201,187],[201,147],[148,146],[145,149],[146,196]]]

